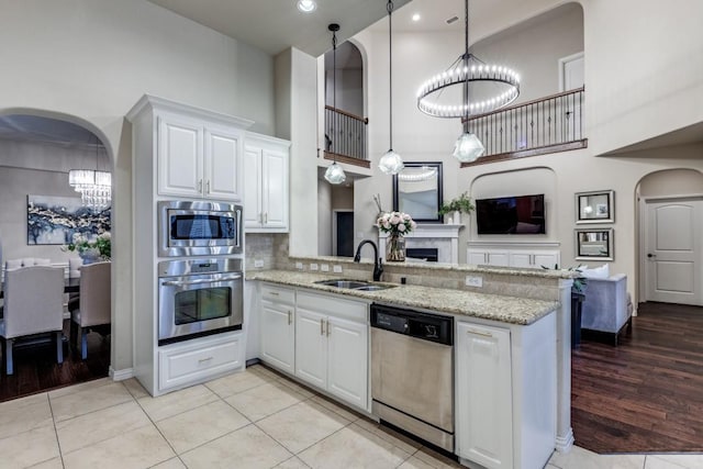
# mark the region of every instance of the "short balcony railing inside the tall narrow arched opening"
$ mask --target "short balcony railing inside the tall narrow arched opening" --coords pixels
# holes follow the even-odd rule
[[[344,163],[367,166],[367,125],[368,119],[325,105],[325,158],[336,154]],[[339,159],[339,158],[338,158]]]

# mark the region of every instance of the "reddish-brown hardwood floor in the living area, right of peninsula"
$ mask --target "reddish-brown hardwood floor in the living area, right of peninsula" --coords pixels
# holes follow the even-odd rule
[[[582,340],[571,357],[578,446],[703,451],[703,308],[641,303],[617,347]]]

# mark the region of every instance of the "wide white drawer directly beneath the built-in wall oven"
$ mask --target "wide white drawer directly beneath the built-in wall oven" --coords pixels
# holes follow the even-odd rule
[[[242,334],[171,344],[158,350],[160,390],[193,384],[239,368]]]

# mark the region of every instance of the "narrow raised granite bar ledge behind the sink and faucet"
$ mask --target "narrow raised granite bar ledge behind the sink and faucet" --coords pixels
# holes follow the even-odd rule
[[[290,256],[290,259],[304,260],[309,263],[328,263],[328,264],[359,264],[355,263],[352,257],[334,257],[334,256]],[[373,260],[362,258],[361,264],[372,265]],[[480,272],[496,273],[503,276],[524,276],[524,277],[542,277],[551,279],[574,279],[579,277],[579,272],[573,270],[555,270],[555,269],[533,269],[520,267],[496,267],[496,266],[475,266],[470,264],[443,264],[443,263],[424,263],[424,261],[404,261],[404,263],[383,263],[383,267],[401,267],[401,268],[419,268],[428,270],[455,270],[459,272]]]

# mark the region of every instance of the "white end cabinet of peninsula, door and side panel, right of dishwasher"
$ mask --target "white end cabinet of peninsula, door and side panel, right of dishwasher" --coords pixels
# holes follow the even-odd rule
[[[456,449],[488,469],[542,469],[555,448],[556,313],[456,323]]]

